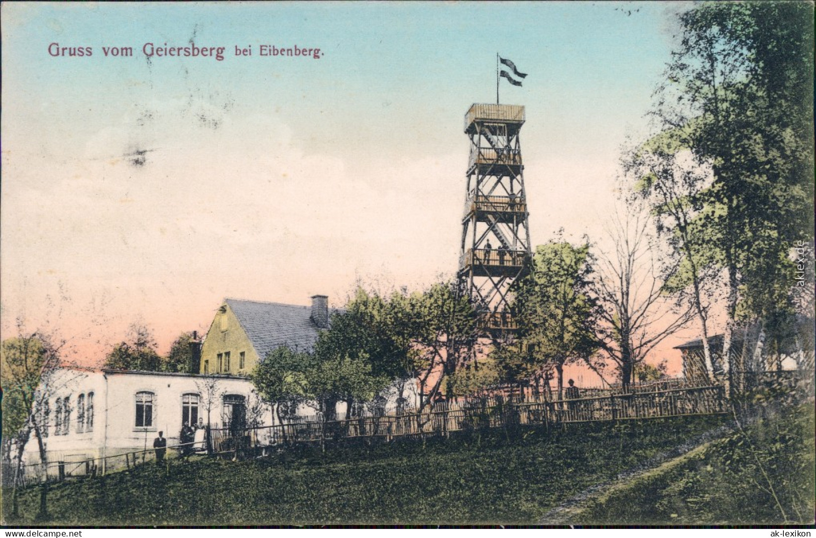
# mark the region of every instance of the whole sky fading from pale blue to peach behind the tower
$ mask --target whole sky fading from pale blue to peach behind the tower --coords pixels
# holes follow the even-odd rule
[[[61,317],[105,345],[141,319],[168,345],[225,296],[341,302],[357,277],[454,273],[463,115],[494,101],[497,52],[529,73],[501,100],[526,105],[533,242],[596,238],[682,6],[4,3],[2,326]],[[191,39],[226,58],[141,52]],[[55,58],[51,42],[93,56]]]

